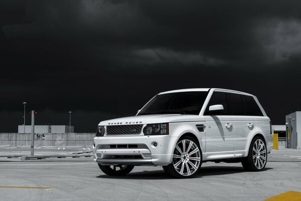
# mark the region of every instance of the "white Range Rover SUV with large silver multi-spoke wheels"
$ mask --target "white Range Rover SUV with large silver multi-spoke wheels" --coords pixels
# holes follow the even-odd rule
[[[270,119],[254,95],[193,88],[158,93],[136,116],[99,123],[93,142],[94,160],[108,175],[153,165],[187,178],[207,161],[263,170],[273,137]]]

